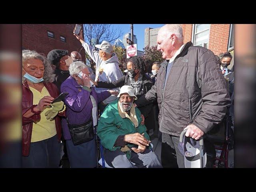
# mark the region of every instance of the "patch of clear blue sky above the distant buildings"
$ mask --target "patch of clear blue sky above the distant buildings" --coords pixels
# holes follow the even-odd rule
[[[123,35],[131,32],[130,24],[113,24],[115,28],[122,30]],[[137,48],[140,51],[143,51],[144,48],[144,30],[145,28],[158,28],[162,27],[164,24],[133,24],[133,34],[137,37]],[[123,36],[120,38],[123,40]]]

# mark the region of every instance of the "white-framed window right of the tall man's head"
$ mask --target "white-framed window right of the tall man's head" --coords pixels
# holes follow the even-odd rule
[[[210,24],[194,24],[193,44],[208,48]]]

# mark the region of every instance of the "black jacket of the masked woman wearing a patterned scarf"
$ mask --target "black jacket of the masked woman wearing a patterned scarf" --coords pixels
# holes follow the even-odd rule
[[[116,88],[116,87],[122,87],[124,85],[130,85],[130,78],[129,75],[126,74],[122,76],[120,79],[114,81],[114,82],[97,82],[98,86],[101,88]],[[147,75],[142,76],[142,84],[136,94],[137,98],[140,98],[142,95],[145,95],[153,86],[153,82],[151,81],[150,77]],[[152,104],[148,106],[142,106],[139,108],[140,112],[144,115],[145,118],[147,118],[148,114],[150,113],[150,110],[152,109]]]

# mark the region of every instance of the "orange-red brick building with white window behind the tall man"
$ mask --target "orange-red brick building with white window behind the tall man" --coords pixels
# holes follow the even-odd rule
[[[214,54],[230,52],[233,55],[229,68],[234,63],[234,24],[182,24],[184,43],[192,41]]]

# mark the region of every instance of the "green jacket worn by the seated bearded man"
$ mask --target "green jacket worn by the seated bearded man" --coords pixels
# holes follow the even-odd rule
[[[117,149],[122,148],[121,146],[114,147],[116,139],[120,135],[127,135],[139,132],[140,134],[144,133],[144,137],[147,140],[149,139],[148,134],[146,133],[146,126],[141,125],[140,122],[142,118],[140,117],[140,110],[135,108],[136,116],[138,119],[139,126],[135,128],[132,121],[128,118],[121,118],[118,113],[118,99],[114,102],[108,104],[100,116],[100,120],[98,122],[97,134],[100,138],[100,143],[106,149],[110,151],[115,151]],[[129,143],[128,147],[138,147],[135,144]],[[149,146],[151,148],[151,146]]]

